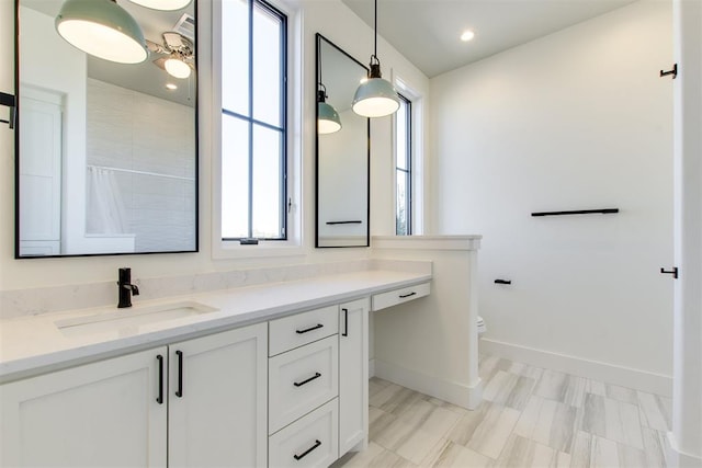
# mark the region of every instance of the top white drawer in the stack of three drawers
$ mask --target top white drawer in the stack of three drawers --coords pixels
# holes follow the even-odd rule
[[[312,343],[338,331],[338,306],[271,320],[269,322],[269,356]]]

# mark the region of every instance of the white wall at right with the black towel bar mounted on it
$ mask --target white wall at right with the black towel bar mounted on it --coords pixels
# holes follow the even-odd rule
[[[433,230],[484,235],[492,350],[641,370],[669,393],[671,38],[669,2],[638,1],[431,80]]]

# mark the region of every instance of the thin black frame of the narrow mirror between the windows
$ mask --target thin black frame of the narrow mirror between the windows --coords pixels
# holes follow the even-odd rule
[[[366,118],[366,230],[365,230],[365,246],[319,246],[319,106],[317,105],[317,77],[319,77],[320,54],[321,54],[321,41],[346,55],[351,60],[363,67],[365,71],[369,71],[369,67],[361,61],[353,58],[349,53],[341,47],[329,41],[320,33],[315,34],[315,248],[316,249],[352,249],[352,248],[369,248],[371,247],[371,119]]]

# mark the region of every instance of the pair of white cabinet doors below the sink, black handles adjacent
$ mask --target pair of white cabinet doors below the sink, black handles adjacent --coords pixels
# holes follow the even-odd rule
[[[0,466],[263,467],[259,323],[0,386]]]

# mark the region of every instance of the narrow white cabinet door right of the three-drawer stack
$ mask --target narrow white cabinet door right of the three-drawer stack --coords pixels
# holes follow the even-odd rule
[[[339,457],[364,449],[369,433],[369,299],[339,310]]]

